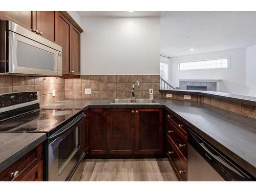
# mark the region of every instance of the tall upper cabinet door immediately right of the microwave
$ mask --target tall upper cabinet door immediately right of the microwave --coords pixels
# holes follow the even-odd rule
[[[69,20],[60,12],[57,13],[56,37],[57,44],[62,47],[62,73],[71,74],[70,71],[70,27]]]

